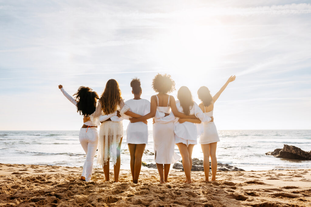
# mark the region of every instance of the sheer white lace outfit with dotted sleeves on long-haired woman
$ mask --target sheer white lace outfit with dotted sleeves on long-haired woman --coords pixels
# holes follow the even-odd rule
[[[121,116],[127,112],[128,109],[128,106],[126,106],[123,99],[121,99],[117,109],[120,111]],[[104,117],[103,115],[104,112],[101,108],[100,101],[98,101],[95,112],[90,115],[92,123],[99,124],[102,117]],[[97,163],[102,166],[107,163],[108,159],[112,160],[114,165],[117,162],[117,147],[123,137],[123,124],[122,119],[120,119],[120,121],[113,121],[114,117],[116,116],[110,118],[112,121],[104,121],[100,125]]]

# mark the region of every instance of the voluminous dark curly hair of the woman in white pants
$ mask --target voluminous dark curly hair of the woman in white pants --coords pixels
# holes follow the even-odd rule
[[[96,109],[96,101],[99,99],[97,93],[92,88],[80,86],[78,91],[73,94],[77,101],[77,112],[80,115],[90,115]]]

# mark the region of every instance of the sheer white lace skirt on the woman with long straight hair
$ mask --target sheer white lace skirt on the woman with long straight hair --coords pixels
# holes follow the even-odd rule
[[[97,163],[104,166],[108,159],[117,162],[117,148],[123,137],[122,121],[104,121],[100,125]]]

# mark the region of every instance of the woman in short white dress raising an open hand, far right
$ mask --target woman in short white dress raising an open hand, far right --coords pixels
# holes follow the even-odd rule
[[[219,98],[220,94],[225,90],[228,84],[235,80],[235,75],[230,76],[225,85],[220,88],[220,90],[214,95],[211,95],[210,90],[206,86],[202,86],[197,91],[197,95],[202,103],[199,107],[204,111],[207,116],[213,116],[214,103]],[[217,142],[219,142],[219,137],[217,133],[216,126],[214,122],[203,122],[204,133],[201,134],[199,143],[202,147],[203,152],[203,167],[205,174],[205,181],[208,182],[208,174],[210,171],[210,157],[211,157],[211,169],[212,169],[212,179],[211,181],[216,181],[216,171],[217,171],[217,158],[216,158],[216,147]]]

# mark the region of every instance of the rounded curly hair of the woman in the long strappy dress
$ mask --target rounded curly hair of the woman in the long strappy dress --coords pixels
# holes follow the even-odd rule
[[[157,74],[152,79],[152,88],[158,93],[171,93],[175,90],[175,81],[168,74]]]

